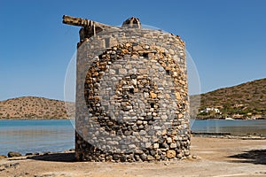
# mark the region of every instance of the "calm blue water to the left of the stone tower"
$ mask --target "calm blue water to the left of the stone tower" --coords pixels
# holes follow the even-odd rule
[[[0,120],[0,155],[74,148],[70,120]]]

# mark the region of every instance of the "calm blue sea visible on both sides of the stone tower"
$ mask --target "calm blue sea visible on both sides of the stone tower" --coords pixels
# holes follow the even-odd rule
[[[266,120],[191,120],[191,128],[199,133],[266,137]],[[0,155],[9,151],[26,154],[70,149],[74,149],[72,120],[0,120]]]

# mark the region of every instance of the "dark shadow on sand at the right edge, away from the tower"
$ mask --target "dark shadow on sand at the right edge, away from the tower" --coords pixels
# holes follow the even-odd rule
[[[266,149],[265,150],[248,150],[240,154],[230,156],[228,158],[238,158],[231,160],[236,163],[252,163],[266,165]]]

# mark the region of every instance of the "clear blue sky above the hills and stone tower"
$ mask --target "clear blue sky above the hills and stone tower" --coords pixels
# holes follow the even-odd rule
[[[0,1],[0,100],[64,98],[66,67],[79,27],[62,15],[145,25],[180,35],[200,74],[201,92],[266,77],[266,1]]]

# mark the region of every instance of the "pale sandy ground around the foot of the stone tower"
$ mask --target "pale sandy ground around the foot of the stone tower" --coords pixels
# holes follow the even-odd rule
[[[266,140],[192,137],[197,158],[153,163],[74,162],[74,153],[0,160],[0,176],[266,176]]]

